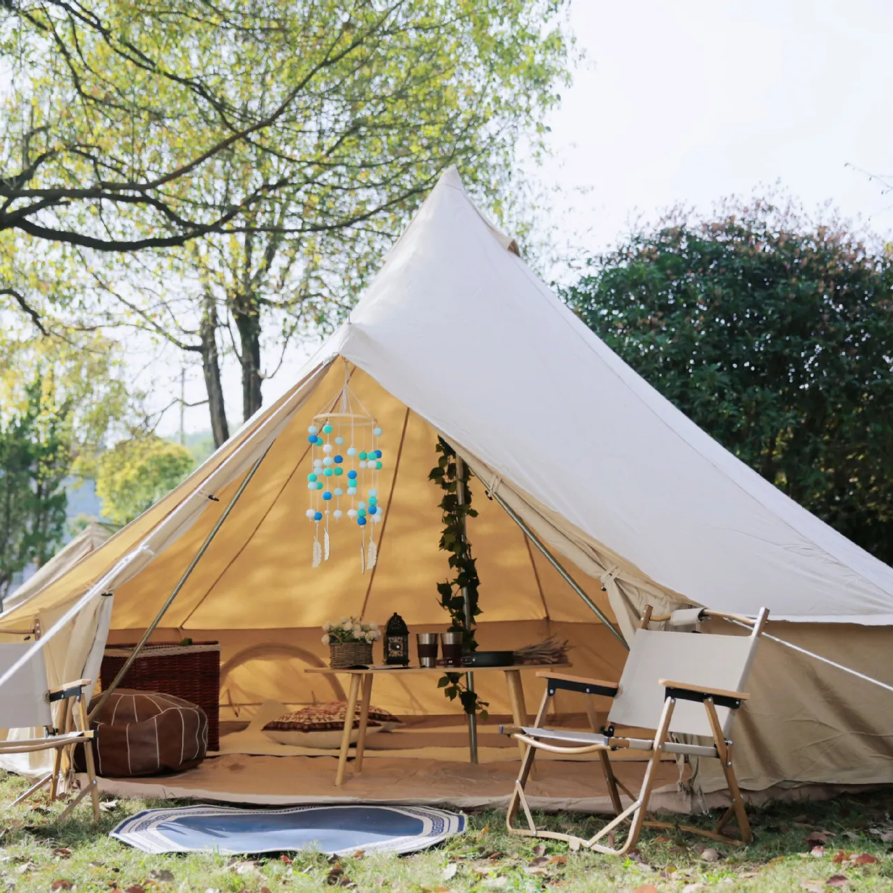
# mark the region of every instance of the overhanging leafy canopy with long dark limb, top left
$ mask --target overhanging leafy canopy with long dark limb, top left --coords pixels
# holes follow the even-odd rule
[[[555,102],[561,5],[3,4],[0,230],[130,251],[374,229],[445,163],[505,159]]]

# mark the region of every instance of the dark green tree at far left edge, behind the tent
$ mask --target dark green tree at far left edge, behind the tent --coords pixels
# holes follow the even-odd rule
[[[45,563],[65,533],[71,406],[55,404],[51,376],[24,392],[24,405],[0,405],[0,600],[13,573]]]

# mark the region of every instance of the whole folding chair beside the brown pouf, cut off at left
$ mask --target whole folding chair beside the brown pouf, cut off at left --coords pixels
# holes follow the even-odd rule
[[[8,670],[21,655],[31,647],[30,642],[14,642],[0,645],[0,674]],[[0,719],[9,729],[24,729],[43,726],[44,738],[0,741],[0,754],[27,754],[35,750],[53,748],[55,758],[53,772],[38,780],[14,803],[21,803],[47,782],[50,784],[50,799],[58,793],[60,776],[63,772],[63,751],[69,750],[69,765],[74,747],[83,745],[84,762],[87,764],[88,785],[65,808],[61,818],[65,819],[79,802],[87,796],[93,800],[93,817],[99,819],[99,791],[96,788],[96,771],[93,760],[94,733],[89,728],[85,690],[90,680],[79,679],[66,682],[58,689],[49,689],[46,682],[46,664],[43,653],[35,655],[25,663],[0,689]],[[63,701],[63,710],[58,728],[53,721],[52,705]]]

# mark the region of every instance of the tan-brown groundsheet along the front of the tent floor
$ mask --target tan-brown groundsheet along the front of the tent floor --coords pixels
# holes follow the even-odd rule
[[[471,764],[382,756],[335,787],[338,761],[331,756],[225,755],[188,772],[157,778],[99,779],[104,794],[141,799],[199,799],[216,803],[316,805],[379,803],[445,806],[457,809],[505,808],[518,761]],[[630,789],[641,785],[646,763],[616,764],[614,772]],[[594,764],[543,762],[527,786],[530,805],[549,811],[609,813],[605,780]],[[652,808],[688,812],[677,790],[676,764],[662,763]],[[623,798],[624,801],[626,797]]]

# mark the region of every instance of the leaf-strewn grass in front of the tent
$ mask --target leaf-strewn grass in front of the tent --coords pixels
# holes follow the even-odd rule
[[[561,844],[511,837],[505,814],[469,816],[463,837],[406,856],[363,855],[329,859],[318,853],[228,858],[211,854],[146,855],[108,837],[125,816],[153,805],[106,802],[98,826],[82,803],[75,817],[58,822],[62,805],[46,796],[31,805],[8,804],[24,782],[0,772],[0,893],[3,890],[114,890],[129,893],[280,893],[351,887],[357,890],[640,893],[696,890],[891,890],[893,822],[889,791],[839,797],[824,803],[771,805],[751,815],[749,847],[719,846],[673,832],[643,834],[633,858],[571,853]],[[171,805],[164,801],[163,805]],[[552,829],[581,837],[600,820],[578,814],[539,816]],[[714,816],[697,816],[705,827]],[[823,843],[822,843],[823,839]],[[709,847],[709,841],[706,841]],[[815,848],[818,847],[818,848]],[[849,856],[835,856],[839,851]],[[863,854],[870,856],[871,861]],[[859,856],[856,862],[852,856]],[[707,858],[705,858],[705,856]],[[714,858],[715,856],[715,858]],[[713,861],[710,861],[713,859]],[[829,884],[828,881],[832,880]],[[703,885],[703,886],[698,886]]]

